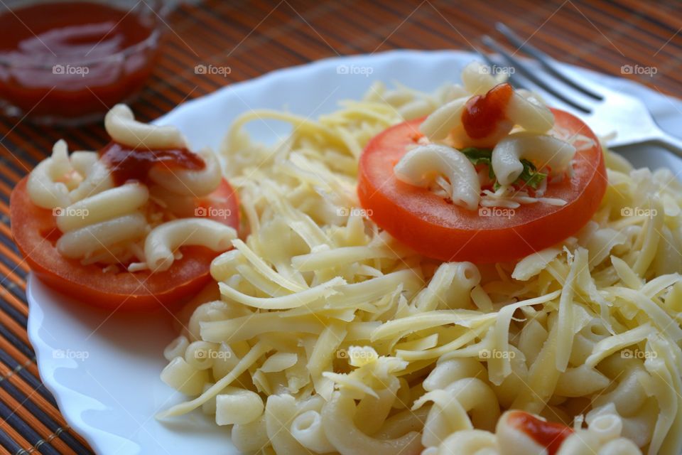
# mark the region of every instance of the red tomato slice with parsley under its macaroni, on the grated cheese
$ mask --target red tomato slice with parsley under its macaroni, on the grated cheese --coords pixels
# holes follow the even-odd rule
[[[443,261],[505,262],[575,234],[597,211],[606,191],[604,156],[597,137],[577,117],[552,109],[562,134],[582,134],[594,146],[575,154],[573,176],[548,184],[545,197],[561,207],[534,203],[513,211],[467,210],[426,188],[399,181],[393,168],[421,134],[423,119],[386,129],[369,141],[359,161],[357,192],[372,220],[417,252]]]

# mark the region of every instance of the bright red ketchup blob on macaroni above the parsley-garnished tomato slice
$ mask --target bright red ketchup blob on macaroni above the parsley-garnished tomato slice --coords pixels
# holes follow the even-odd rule
[[[504,83],[467,101],[462,112],[462,126],[470,138],[482,139],[494,132],[497,124],[507,118],[504,111],[512,93],[511,85]]]

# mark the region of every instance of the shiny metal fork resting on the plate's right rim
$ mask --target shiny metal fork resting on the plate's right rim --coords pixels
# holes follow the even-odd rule
[[[505,65],[514,68],[514,73],[509,75],[511,85],[539,92],[548,98],[550,105],[583,119],[597,135],[607,137],[615,133],[607,141],[610,148],[656,144],[682,157],[682,140],[664,132],[637,97],[597,84],[571,68],[560,67],[556,60],[526,43],[503,23],[497,23],[496,28],[512,45],[531,57],[521,60],[489,36],[482,38]],[[480,55],[493,68],[497,65],[485,53]]]

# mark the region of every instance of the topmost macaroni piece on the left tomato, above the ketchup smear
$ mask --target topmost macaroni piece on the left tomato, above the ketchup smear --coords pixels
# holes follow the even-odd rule
[[[119,144],[146,149],[173,149],[185,146],[180,130],[137,122],[130,107],[116,105],[104,117],[104,128]]]

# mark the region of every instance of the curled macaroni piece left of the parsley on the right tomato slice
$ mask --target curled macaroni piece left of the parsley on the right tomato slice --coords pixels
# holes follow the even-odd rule
[[[458,150],[438,144],[417,146],[402,157],[394,170],[400,181],[423,188],[433,185],[437,176],[445,176],[455,205],[469,210],[478,207],[481,185],[476,170]]]

